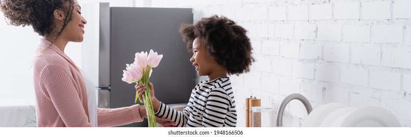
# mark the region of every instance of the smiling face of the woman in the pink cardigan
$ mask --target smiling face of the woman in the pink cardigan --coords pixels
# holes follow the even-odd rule
[[[86,19],[81,16],[81,7],[78,4],[77,0],[74,0],[74,10],[72,15],[72,20],[67,23],[64,31],[66,37],[71,42],[82,42],[84,34],[84,24],[87,23]],[[70,15],[69,15],[70,16]]]

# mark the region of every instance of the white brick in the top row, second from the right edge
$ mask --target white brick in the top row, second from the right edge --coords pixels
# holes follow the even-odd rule
[[[387,20],[391,19],[391,1],[375,1],[362,3],[362,19]]]

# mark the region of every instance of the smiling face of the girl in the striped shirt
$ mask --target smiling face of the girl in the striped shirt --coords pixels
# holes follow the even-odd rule
[[[198,38],[193,41],[193,57],[190,58],[190,62],[193,63],[198,76],[209,76],[218,66],[214,57],[207,53],[206,47]]]

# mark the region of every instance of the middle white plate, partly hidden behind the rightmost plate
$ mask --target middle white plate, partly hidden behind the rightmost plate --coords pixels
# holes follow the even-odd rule
[[[328,114],[319,127],[338,127],[348,114],[351,114],[356,110],[357,108],[353,107],[339,108]]]

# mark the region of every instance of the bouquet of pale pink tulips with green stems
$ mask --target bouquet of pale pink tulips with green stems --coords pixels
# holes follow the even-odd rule
[[[147,52],[141,51],[136,53],[136,58],[134,58],[133,64],[126,64],[126,70],[123,70],[122,81],[127,82],[128,84],[137,83],[145,84],[145,92],[143,93],[145,111],[147,113],[148,127],[156,127],[156,118],[154,115],[153,104],[150,98],[150,88],[148,88],[148,81],[151,76],[152,69],[156,68],[160,63],[163,55],[158,55],[157,52],[154,52],[152,49],[147,56]],[[137,102],[139,98],[138,93],[136,92],[136,99],[134,103]],[[141,101],[140,101],[141,102]]]

